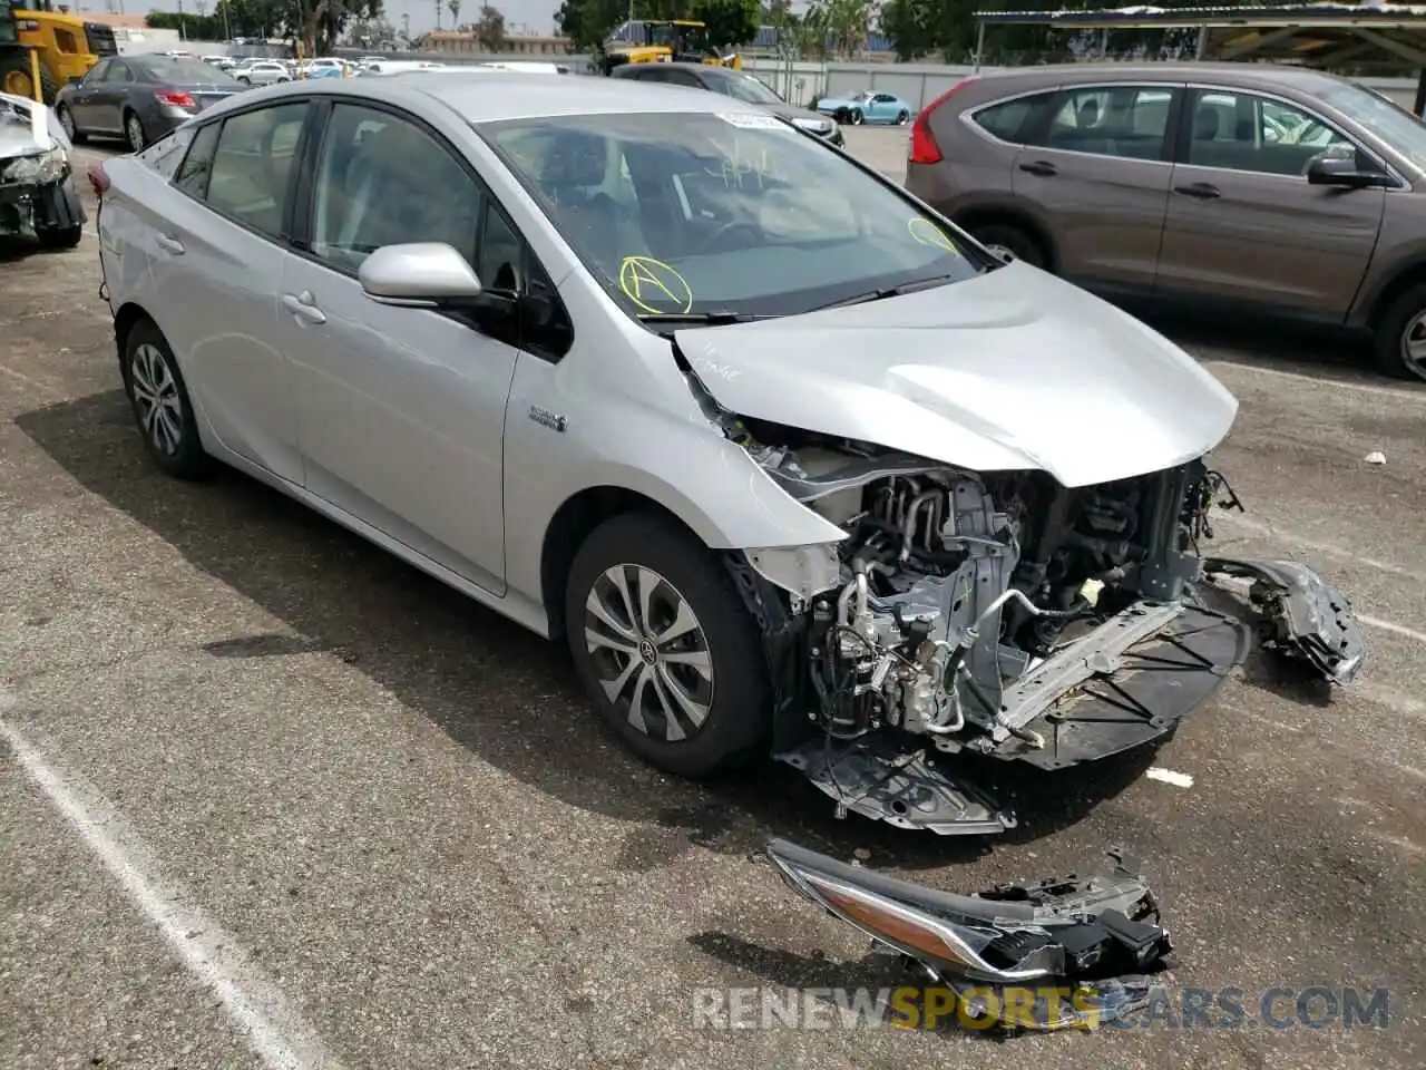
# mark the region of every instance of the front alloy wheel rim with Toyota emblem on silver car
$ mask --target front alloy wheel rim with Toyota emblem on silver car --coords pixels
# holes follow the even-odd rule
[[[687,599],[642,565],[613,565],[585,599],[585,642],[599,685],[629,725],[677,743],[713,706],[713,658]]]

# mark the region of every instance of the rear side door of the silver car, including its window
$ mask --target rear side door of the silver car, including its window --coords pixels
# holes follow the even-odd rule
[[[155,221],[160,324],[195,408],[220,445],[301,485],[294,374],[277,344],[294,161],[305,100],[247,108],[193,134],[174,174],[171,211]]]

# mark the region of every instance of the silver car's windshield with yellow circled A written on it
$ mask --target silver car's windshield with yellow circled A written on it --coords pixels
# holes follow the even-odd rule
[[[773,116],[563,116],[479,131],[635,315],[793,315],[987,265]]]

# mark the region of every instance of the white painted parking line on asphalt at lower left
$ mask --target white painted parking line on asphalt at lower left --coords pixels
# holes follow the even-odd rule
[[[53,766],[30,739],[4,719],[13,698],[0,695],[0,738],[26,775],[74,827],[124,895],[163,933],[188,969],[222,1003],[248,1047],[270,1070],[339,1070],[322,1041],[281,992],[188,896],[164,883],[144,843],[123,827],[106,799]]]

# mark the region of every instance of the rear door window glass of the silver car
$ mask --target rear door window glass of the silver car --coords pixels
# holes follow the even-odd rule
[[[307,101],[244,111],[224,121],[205,200],[252,230],[278,238]],[[187,161],[184,164],[187,170]]]

